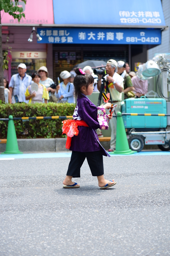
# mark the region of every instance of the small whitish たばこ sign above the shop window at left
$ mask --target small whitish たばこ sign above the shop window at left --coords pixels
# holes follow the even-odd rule
[[[46,52],[12,52],[12,59],[46,59]]]

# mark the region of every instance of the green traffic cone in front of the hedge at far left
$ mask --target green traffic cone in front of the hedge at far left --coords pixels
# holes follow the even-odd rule
[[[9,116],[9,121],[8,121],[6,150],[1,154],[23,154],[23,152],[21,152],[18,149],[18,142],[17,142],[17,135],[15,132],[14,120],[13,120],[13,116],[11,115]]]

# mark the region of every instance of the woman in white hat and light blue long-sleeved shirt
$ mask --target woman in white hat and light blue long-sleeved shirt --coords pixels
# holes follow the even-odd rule
[[[59,100],[68,103],[75,103],[74,99],[74,85],[70,83],[70,72],[64,70],[60,73],[60,77],[63,79],[63,82],[56,88],[55,96]]]

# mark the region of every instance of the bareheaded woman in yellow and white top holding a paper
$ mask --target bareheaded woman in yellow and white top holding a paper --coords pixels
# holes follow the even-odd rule
[[[47,100],[49,100],[49,93],[46,89],[46,86],[43,84],[40,84],[40,76],[37,73],[32,74],[32,81],[37,84],[37,87],[33,88],[34,84],[31,84],[27,87],[25,92],[25,99],[29,100],[29,103],[43,103],[43,99],[45,100],[45,103],[47,103]],[[35,84],[35,85],[36,85]]]

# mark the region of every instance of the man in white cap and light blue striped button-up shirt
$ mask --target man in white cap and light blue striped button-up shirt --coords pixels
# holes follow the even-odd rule
[[[9,84],[9,90],[13,96],[12,103],[28,103],[29,100],[25,100],[25,92],[26,88],[32,83],[32,77],[26,74],[26,65],[24,63],[20,63],[17,68],[18,74],[11,77]]]

